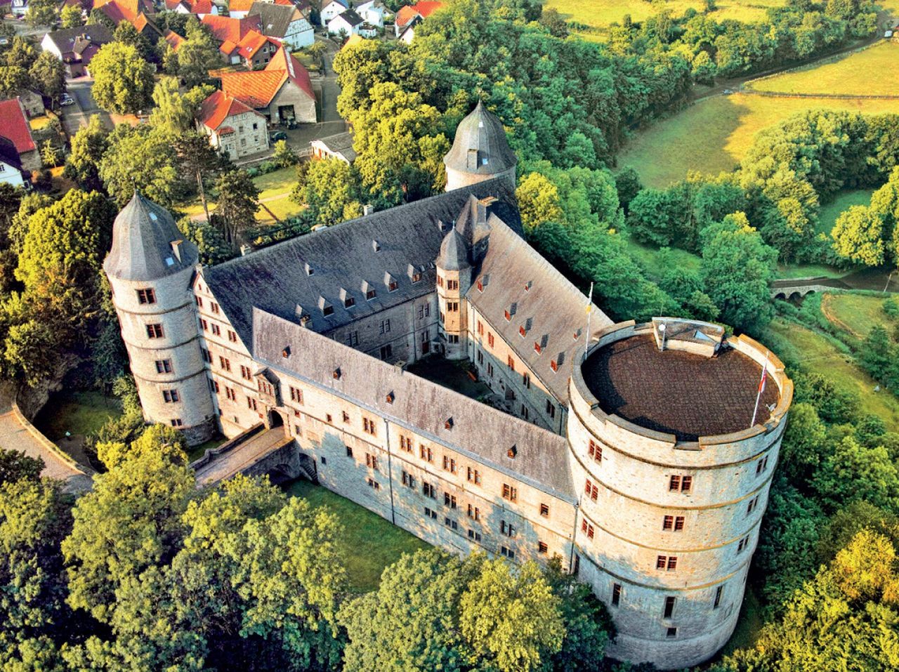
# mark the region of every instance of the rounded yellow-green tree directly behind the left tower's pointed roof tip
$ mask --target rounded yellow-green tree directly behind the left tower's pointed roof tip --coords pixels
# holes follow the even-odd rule
[[[190,182],[179,172],[174,137],[164,128],[120,124],[108,138],[100,177],[109,195],[122,207],[138,190],[164,208],[188,193]]]

